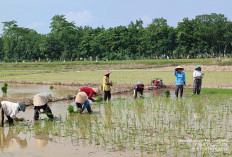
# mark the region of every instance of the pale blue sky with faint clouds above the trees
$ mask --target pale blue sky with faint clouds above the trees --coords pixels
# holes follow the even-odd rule
[[[39,33],[50,31],[51,18],[57,14],[66,15],[77,26],[109,28],[139,18],[146,26],[160,17],[175,27],[184,17],[210,13],[222,13],[231,20],[232,0],[0,0],[0,22],[16,20],[19,26]]]

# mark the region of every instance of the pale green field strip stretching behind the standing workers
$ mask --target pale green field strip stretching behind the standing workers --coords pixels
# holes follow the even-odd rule
[[[186,71],[186,84],[193,84],[191,71]],[[206,71],[203,86],[227,86],[232,84],[232,71]],[[104,71],[81,71],[60,73],[38,73],[34,75],[17,75],[0,78],[1,81],[26,81],[48,83],[94,83],[101,84]],[[174,85],[173,71],[113,71],[110,80],[114,85],[128,84],[131,87],[141,80],[146,85],[151,79],[162,78],[165,85]]]

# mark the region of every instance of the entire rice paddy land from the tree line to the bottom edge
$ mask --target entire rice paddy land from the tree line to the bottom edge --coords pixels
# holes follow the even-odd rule
[[[139,80],[148,86],[153,78],[174,85],[177,63],[186,67],[182,99],[171,88],[170,96],[167,89],[147,90],[138,99],[123,93],[91,103],[90,115],[69,113],[69,105],[76,110],[74,100],[53,102],[54,120],[41,114],[38,122],[28,106],[18,114],[23,121],[0,127],[0,156],[232,156],[231,59],[2,63],[0,81],[8,82],[8,93],[1,96],[74,95],[81,84],[100,87],[106,69],[112,70],[113,91],[131,89]],[[195,64],[205,68],[201,95],[192,95]]]

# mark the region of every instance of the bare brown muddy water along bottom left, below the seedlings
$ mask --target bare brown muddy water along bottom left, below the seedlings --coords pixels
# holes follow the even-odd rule
[[[50,137],[30,137],[29,135],[17,135],[11,129],[0,128],[1,157],[117,157],[117,156],[141,156],[136,151],[115,151],[104,150],[100,146],[89,143],[64,142],[61,139]],[[43,135],[48,136],[48,135]]]

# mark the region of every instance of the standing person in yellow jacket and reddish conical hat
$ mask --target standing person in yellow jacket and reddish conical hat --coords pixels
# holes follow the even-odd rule
[[[104,77],[103,77],[103,92],[104,92],[104,101],[106,101],[107,99],[110,100],[111,99],[111,86],[112,86],[112,82],[110,82],[110,73],[111,71],[107,70],[104,73]]]

